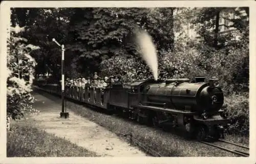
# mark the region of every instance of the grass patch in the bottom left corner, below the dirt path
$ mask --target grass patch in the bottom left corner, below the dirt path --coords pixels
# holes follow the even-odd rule
[[[7,131],[7,157],[94,157],[96,153],[54,134],[40,130],[31,122],[19,121]]]

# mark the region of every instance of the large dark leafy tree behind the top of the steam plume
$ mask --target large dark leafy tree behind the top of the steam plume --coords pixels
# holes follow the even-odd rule
[[[173,46],[172,8],[76,9],[70,20],[68,50],[77,70],[99,71],[98,63],[114,56],[138,56],[136,29],[145,29],[158,49]],[[77,18],[80,19],[77,19]],[[86,74],[90,74],[87,72]]]

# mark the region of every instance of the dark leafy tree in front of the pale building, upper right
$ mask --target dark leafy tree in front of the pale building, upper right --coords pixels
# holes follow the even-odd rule
[[[192,19],[191,23],[199,24],[200,28],[198,34],[204,38],[204,43],[215,48],[223,48],[226,46],[227,42],[233,37],[228,33],[228,35],[221,35],[219,33],[219,22],[220,18],[224,21],[230,21],[231,25],[226,25],[226,28],[235,28],[240,32],[243,32],[246,26],[248,26],[248,21],[244,20],[241,16],[240,11],[245,10],[248,13],[247,8],[195,8],[195,17]],[[234,13],[238,18],[229,18],[229,14]],[[213,32],[213,35],[212,35]]]

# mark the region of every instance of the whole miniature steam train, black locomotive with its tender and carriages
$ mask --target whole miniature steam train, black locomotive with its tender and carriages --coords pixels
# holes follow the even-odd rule
[[[135,81],[131,88],[111,84],[105,89],[91,86],[66,87],[66,98],[109,111],[118,111],[141,124],[175,127],[187,136],[202,141],[224,138],[229,119],[221,110],[224,95],[218,78],[207,83],[205,77],[175,78],[165,81]],[[45,85],[45,90],[61,94],[60,86]]]

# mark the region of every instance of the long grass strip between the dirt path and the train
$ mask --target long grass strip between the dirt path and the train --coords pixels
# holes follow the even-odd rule
[[[83,110],[81,106],[79,107],[79,105],[72,102],[67,102],[67,107],[72,108],[72,111],[77,115],[86,117],[90,121],[107,128],[119,136],[132,133],[134,139],[156,152],[161,152],[161,156],[187,156],[190,151],[188,149],[185,150],[185,147],[182,150],[182,144],[177,142],[175,138],[169,138],[168,135],[162,135],[162,137],[159,138],[159,133],[163,133],[163,131],[159,129],[142,126],[129,120],[123,120],[117,116],[110,116],[91,110]],[[130,142],[129,135],[124,139]]]

